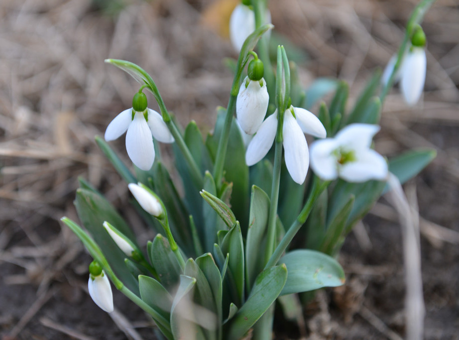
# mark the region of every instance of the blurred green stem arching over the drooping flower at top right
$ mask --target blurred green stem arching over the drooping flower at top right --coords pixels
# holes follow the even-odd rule
[[[385,84],[379,96],[381,103],[384,103],[387,94],[389,93],[390,89],[392,88],[392,85],[394,84],[395,75],[397,74],[400,66],[402,65],[402,61],[407,50],[407,44],[410,41],[411,35],[413,34],[413,29],[416,27],[417,24],[420,24],[422,22],[422,19],[424,18],[424,15],[426,14],[427,10],[435,1],[436,0],[422,0],[411,13],[410,19],[406,24],[405,36],[400,47],[398,48],[397,61],[395,62],[389,80]]]

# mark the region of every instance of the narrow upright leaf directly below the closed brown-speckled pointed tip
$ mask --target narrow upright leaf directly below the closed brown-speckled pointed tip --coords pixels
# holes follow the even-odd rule
[[[229,230],[222,242],[222,252],[229,254],[229,271],[234,279],[237,303],[244,301],[244,245],[239,223]]]

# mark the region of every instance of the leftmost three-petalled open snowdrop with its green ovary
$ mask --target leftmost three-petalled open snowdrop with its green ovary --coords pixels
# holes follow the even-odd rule
[[[149,170],[155,159],[153,137],[163,143],[174,142],[161,114],[147,108],[146,96],[136,93],[132,108],[119,113],[107,126],[105,140],[118,138],[126,132],[127,155],[138,168]]]

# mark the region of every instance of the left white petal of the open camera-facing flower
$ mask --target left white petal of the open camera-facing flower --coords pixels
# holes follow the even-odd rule
[[[333,151],[338,148],[334,138],[316,140],[309,149],[311,168],[324,181],[338,178],[338,162]]]

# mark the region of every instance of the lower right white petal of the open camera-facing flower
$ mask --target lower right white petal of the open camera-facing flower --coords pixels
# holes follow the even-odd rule
[[[366,182],[370,179],[385,180],[388,175],[387,162],[372,149],[361,150],[355,155],[357,160],[340,168],[340,177],[347,182]]]

